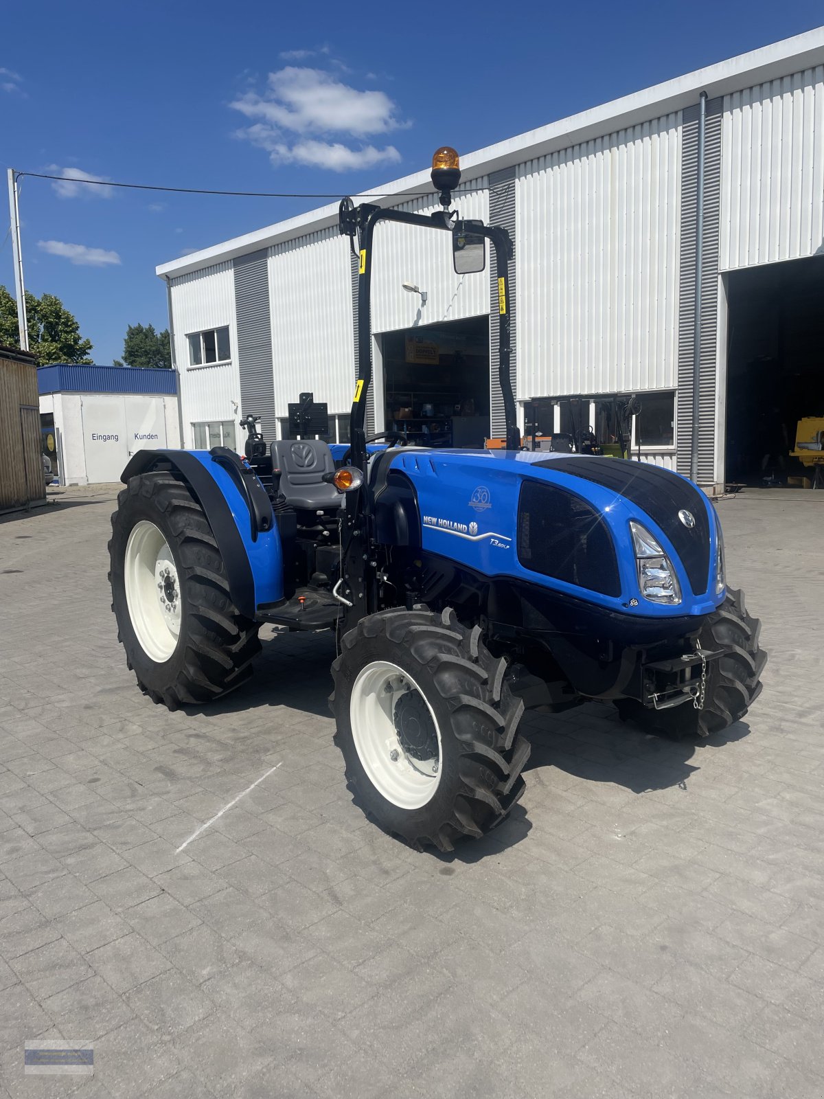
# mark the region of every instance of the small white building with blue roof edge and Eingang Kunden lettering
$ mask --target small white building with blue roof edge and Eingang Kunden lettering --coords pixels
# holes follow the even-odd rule
[[[43,453],[60,485],[119,481],[136,451],[180,446],[174,370],[37,368]]]

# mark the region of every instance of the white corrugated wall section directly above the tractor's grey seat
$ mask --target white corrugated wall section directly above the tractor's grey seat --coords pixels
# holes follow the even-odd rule
[[[269,251],[275,411],[311,391],[330,412],[348,412],[353,393],[349,241],[337,229]]]

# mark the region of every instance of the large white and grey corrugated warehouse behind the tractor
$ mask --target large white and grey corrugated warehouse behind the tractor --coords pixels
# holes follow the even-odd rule
[[[760,476],[824,413],[824,27],[461,153],[461,217],[514,243],[522,430],[606,440],[611,398],[635,396],[633,454],[713,485]],[[428,187],[375,190],[425,212]],[[503,434],[494,263],[450,259],[448,234],[378,229],[368,423],[482,445]],[[157,274],[185,445],[236,445],[238,413],[283,437],[310,390],[346,441],[357,260],[336,204]]]

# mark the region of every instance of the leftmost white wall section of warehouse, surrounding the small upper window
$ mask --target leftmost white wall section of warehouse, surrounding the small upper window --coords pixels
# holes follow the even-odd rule
[[[235,290],[232,262],[181,275],[170,280],[175,329],[175,359],[180,371],[183,446],[193,446],[191,424],[240,419],[241,380],[237,373]],[[222,366],[189,366],[190,332],[229,325],[232,362]]]

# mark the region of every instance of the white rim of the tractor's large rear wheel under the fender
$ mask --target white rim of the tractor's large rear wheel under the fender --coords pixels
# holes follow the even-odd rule
[[[146,656],[163,664],[180,636],[180,582],[166,536],[146,519],[132,528],[123,570],[132,629]]]

